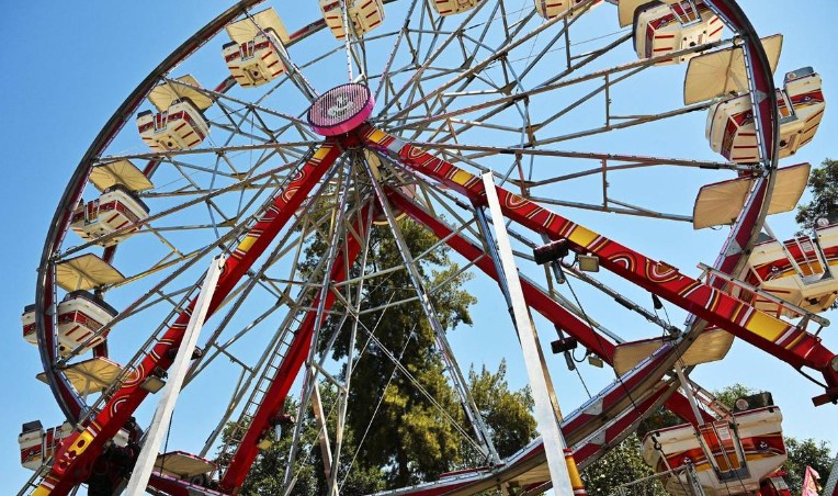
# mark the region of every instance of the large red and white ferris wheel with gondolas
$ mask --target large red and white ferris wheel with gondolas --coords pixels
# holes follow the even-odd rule
[[[278,427],[298,455],[294,417],[313,408],[318,428],[338,418],[321,444],[337,492],[348,405],[387,387],[359,384],[354,365],[373,357],[416,383],[410,342],[376,334],[408,305],[479,462],[394,494],[543,491],[565,462],[556,439],[588,466],[661,405],[688,424],[653,433],[650,464],[704,453],[706,491],[758,488],[783,460],[782,441],[754,441],[779,436],[779,410],[733,416],[687,374],[738,337],[823,383],[816,402],[838,399],[838,357],[818,337],[838,218],[789,241],[765,224],[800,200],[809,167],[782,159],[825,108],[813,68],[774,74],[781,48],[733,0],[237,3],[131,92],[56,208],[22,319],[68,421],[24,425],[35,473],[21,493],[116,489],[134,456],[98,469],[151,444],[161,397],[201,412],[201,441],[155,447],[150,491],[236,494]],[[412,245],[417,228],[433,244]],[[396,257],[375,257],[385,243]],[[457,264],[437,272],[443,248]],[[678,269],[701,259],[715,262],[699,277]],[[485,286],[473,313],[514,315],[468,350],[434,307],[464,274]],[[612,330],[615,314],[643,331]],[[614,382],[558,415],[536,328]],[[500,455],[463,369],[516,332],[544,439]],[[695,447],[659,449],[684,432]]]

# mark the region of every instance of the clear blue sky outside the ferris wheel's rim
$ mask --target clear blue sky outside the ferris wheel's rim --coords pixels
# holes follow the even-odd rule
[[[99,2],[95,5],[104,7],[97,10],[93,3],[16,2],[4,9],[0,20],[7,47],[4,75],[0,79],[0,111],[4,116],[0,121],[0,140],[7,174],[0,182],[7,247],[7,282],[0,293],[0,315],[7,329],[2,395],[8,406],[0,413],[5,426],[0,435],[3,494],[19,488],[29,477],[29,472],[19,464],[16,437],[21,424],[41,419],[49,426],[60,421],[48,388],[34,379],[39,361],[20,330],[22,308],[34,301],[35,269],[55,205],[78,160],[114,109],[171,49],[230,4],[213,3],[149,0],[115,7]],[[803,8],[781,0],[743,0],[741,4],[760,33],[785,35],[778,80],[785,70],[807,65],[814,66],[824,79],[829,102],[826,116],[814,143],[796,160],[814,165],[825,157],[838,158],[835,145],[838,121],[830,112],[833,99],[838,95],[833,25],[833,20],[838,19],[838,3],[809,0]],[[703,140],[703,136],[697,135],[694,139]],[[793,232],[788,218],[772,223],[775,230],[783,233],[780,236]],[[672,244],[672,249],[676,246]],[[667,244],[663,244],[649,255],[667,259]],[[693,263],[699,261],[713,260],[711,256]],[[681,269],[695,274],[692,266]],[[494,324],[497,315],[475,315],[475,327]],[[838,322],[835,313],[830,317]],[[824,340],[834,350],[838,349],[836,326],[838,323],[824,331]],[[455,346],[456,341],[457,338]],[[509,349],[502,345],[489,347],[475,361],[485,360],[494,368]],[[510,358],[510,362],[514,359]],[[578,385],[568,384],[574,393],[565,395],[564,381],[570,382],[573,377],[557,374],[559,401],[569,410],[580,403],[575,396]],[[838,407],[812,407],[809,398],[818,394],[817,387],[766,353],[737,342],[725,361],[704,367],[693,376],[707,388],[740,382],[771,390],[785,413],[786,435],[828,439],[838,449],[835,427]],[[513,373],[510,381],[520,385],[522,375]]]

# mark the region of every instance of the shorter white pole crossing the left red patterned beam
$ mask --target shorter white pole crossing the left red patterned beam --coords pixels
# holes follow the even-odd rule
[[[140,496],[146,493],[148,480],[151,477],[151,471],[154,470],[155,461],[157,461],[160,442],[169,429],[174,403],[178,401],[189,364],[192,361],[197,336],[201,332],[201,327],[204,325],[206,312],[210,308],[210,302],[215,293],[215,285],[218,283],[218,277],[222,273],[225,260],[226,258],[223,256],[215,257],[210,264],[210,270],[206,271],[204,284],[201,286],[197,302],[195,302],[195,307],[192,309],[192,316],[183,334],[181,346],[178,348],[178,354],[169,368],[169,382],[163,386],[160,402],[155,410],[155,417],[146,433],[146,442],[143,444],[137,463],[134,465],[134,472],[128,481],[128,496]]]

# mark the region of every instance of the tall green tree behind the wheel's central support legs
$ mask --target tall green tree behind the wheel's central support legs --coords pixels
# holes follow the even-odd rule
[[[432,249],[437,239],[426,228],[410,221],[399,222],[399,228],[411,253],[428,252],[417,269],[424,288],[435,289],[431,301],[443,329],[471,325],[468,307],[475,298],[461,289],[466,274],[460,273],[446,248]],[[367,273],[403,263],[388,227],[373,228],[369,245],[369,263],[363,268]],[[448,417],[462,425],[464,414],[443,374],[444,363],[422,306],[417,300],[409,300],[415,296],[409,273],[404,269],[365,283],[361,328],[374,331],[381,346],[365,347],[363,335],[359,339],[359,351],[364,347],[365,350],[353,370],[355,386],[349,394],[348,424],[355,432],[365,435],[359,458],[372,466],[387,467],[387,478],[396,486],[434,477],[462,458],[460,435]],[[386,309],[364,312],[405,300],[406,303]],[[342,337],[332,350],[336,360],[347,356],[351,325],[344,323],[341,329]],[[396,370],[382,347],[399,358],[410,376]]]

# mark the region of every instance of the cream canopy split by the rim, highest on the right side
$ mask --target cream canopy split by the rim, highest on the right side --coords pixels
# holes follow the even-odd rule
[[[622,2],[621,2],[622,3]],[[783,36],[775,34],[762,38],[771,72],[777,70]],[[748,91],[745,53],[741,47],[702,54],[690,59],[683,81],[683,103],[691,105],[713,98]]]

